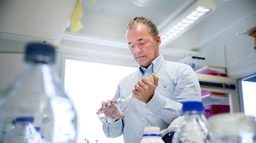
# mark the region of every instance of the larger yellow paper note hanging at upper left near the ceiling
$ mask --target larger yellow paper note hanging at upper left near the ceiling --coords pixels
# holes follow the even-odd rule
[[[83,25],[80,22],[80,19],[82,17],[83,17],[82,4],[81,4],[81,1],[78,0],[77,5],[75,6],[73,14],[70,18],[70,31],[72,35],[75,34],[81,28],[83,28]]]

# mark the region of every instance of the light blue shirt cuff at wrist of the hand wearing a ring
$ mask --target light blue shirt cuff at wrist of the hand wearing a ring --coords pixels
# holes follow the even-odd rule
[[[151,100],[146,104],[146,108],[155,115],[162,109],[164,101],[165,97],[155,92]]]

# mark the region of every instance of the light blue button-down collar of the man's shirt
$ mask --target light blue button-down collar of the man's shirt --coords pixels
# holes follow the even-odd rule
[[[156,57],[150,66],[153,66],[153,72],[156,74],[159,70],[159,68],[163,65],[164,63],[164,58],[163,55],[159,55],[158,57]],[[141,72],[142,75],[144,75],[144,73],[146,72],[147,68],[143,68],[142,66],[139,67],[139,71]]]

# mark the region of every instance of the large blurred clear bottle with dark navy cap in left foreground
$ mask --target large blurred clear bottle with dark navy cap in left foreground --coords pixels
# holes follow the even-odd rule
[[[0,142],[21,116],[34,117],[46,141],[75,142],[76,114],[55,71],[53,46],[27,45],[23,72],[0,95]]]

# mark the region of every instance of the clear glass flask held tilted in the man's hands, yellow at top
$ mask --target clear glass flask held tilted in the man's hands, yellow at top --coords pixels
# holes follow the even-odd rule
[[[152,75],[144,74],[144,77],[147,77],[152,83],[154,83],[154,77]],[[131,103],[135,100],[136,96],[134,94],[128,96],[126,99],[118,98],[116,103],[112,103],[110,107],[101,111],[98,114],[98,117],[104,125],[109,125],[117,120],[122,114],[127,112]]]

